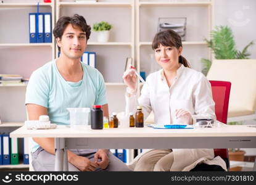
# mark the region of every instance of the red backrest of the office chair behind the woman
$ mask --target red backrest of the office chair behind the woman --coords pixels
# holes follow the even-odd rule
[[[210,80],[212,86],[212,97],[215,102],[215,114],[217,120],[226,123],[228,118],[228,102],[231,89],[229,81],[213,81]]]

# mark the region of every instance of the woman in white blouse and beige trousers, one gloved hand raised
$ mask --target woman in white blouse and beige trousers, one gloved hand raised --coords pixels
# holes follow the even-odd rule
[[[197,118],[215,120],[210,83],[202,73],[192,70],[181,55],[180,36],[172,30],[160,31],[154,37],[152,49],[162,70],[147,77],[139,99],[134,70],[126,70],[126,112],[135,112],[136,105],[142,105],[144,117],[153,111],[158,125],[180,121],[191,125]],[[139,158],[134,171],[189,171],[202,162],[226,170],[224,160],[214,158],[213,149],[154,149]]]

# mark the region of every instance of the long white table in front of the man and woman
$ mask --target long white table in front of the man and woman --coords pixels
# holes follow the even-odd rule
[[[52,130],[27,130],[25,126],[10,133],[10,138],[55,138],[56,171],[68,170],[65,149],[207,149],[255,148],[256,128],[248,125],[228,125],[221,128],[153,129],[109,128],[91,130],[57,126]],[[254,163],[256,171],[256,160]]]

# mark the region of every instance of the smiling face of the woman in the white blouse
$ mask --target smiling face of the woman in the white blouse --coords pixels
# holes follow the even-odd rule
[[[171,70],[179,67],[179,56],[182,47],[177,49],[173,46],[163,46],[162,44],[155,49],[155,60],[164,70]]]

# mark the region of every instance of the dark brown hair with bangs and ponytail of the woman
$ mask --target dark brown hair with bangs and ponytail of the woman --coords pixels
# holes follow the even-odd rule
[[[154,49],[154,50],[157,49],[160,46],[160,44],[162,44],[162,46],[176,47],[177,49],[180,49],[180,47],[182,47],[180,35],[178,35],[178,33],[176,33],[173,30],[159,31],[159,33],[157,33],[155,35],[153,42],[152,42],[152,49]],[[183,64],[184,67],[191,68],[188,60],[186,60],[181,55],[179,57],[179,63]]]

